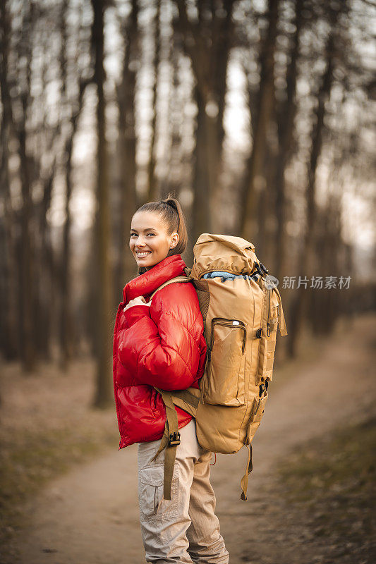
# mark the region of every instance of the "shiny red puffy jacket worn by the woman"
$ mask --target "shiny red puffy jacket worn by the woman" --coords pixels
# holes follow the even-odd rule
[[[150,295],[167,280],[185,276],[181,255],[166,257],[133,278],[123,289],[114,329],[114,391],[119,422],[119,449],[135,442],[161,439],[166,421],[164,390],[198,388],[205,369],[206,343],[198,297],[191,283],[173,283],[159,290],[151,306],[129,301]],[[192,417],[179,407],[178,427]]]

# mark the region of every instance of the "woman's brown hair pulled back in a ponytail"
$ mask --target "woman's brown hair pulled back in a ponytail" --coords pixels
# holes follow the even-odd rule
[[[183,210],[178,200],[173,197],[170,192],[164,200],[159,202],[147,202],[138,208],[137,212],[154,212],[161,216],[163,223],[166,226],[167,233],[178,233],[179,240],[176,247],[170,249],[167,257],[171,255],[181,255],[186,250],[188,242],[188,233],[186,227],[186,218],[184,217]],[[135,212],[137,214],[137,212]],[[145,272],[144,267],[140,268],[139,274]]]

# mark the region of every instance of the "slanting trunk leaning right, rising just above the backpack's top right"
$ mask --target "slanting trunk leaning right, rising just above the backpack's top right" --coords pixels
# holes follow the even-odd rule
[[[255,239],[257,230],[257,190],[265,189],[265,152],[267,131],[273,114],[274,102],[274,51],[277,39],[279,0],[268,2],[268,30],[260,54],[260,91],[258,95],[257,117],[253,131],[253,146],[248,159],[243,192],[241,216],[241,236],[247,240]]]

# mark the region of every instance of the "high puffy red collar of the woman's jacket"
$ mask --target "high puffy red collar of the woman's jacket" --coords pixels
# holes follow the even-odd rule
[[[146,299],[146,296],[150,296],[154,290],[157,290],[167,280],[182,274],[185,276],[185,266],[186,263],[181,258],[181,255],[166,257],[150,270],[140,274],[140,276],[136,276],[136,278],[133,278],[133,280],[126,284],[123,289],[123,302],[127,304],[139,295],[143,295]]]

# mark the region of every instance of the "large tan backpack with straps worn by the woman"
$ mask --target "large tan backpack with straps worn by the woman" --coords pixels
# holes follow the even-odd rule
[[[236,453],[248,448],[241,499],[247,499],[252,470],[251,441],[260,425],[272,380],[277,326],[286,335],[281,296],[267,269],[257,259],[255,247],[245,239],[203,233],[197,240],[192,269],[187,276],[165,282],[195,286],[207,342],[205,374],[200,389],[164,391],[166,427],[154,458],[165,448],[164,498],[171,499],[171,479],[176,446],[180,443],[178,405],[196,419],[202,448],[214,453]],[[204,278],[213,276],[214,278]],[[220,274],[236,275],[222,281]],[[245,276],[244,276],[245,275]],[[154,459],[153,459],[154,460]]]

